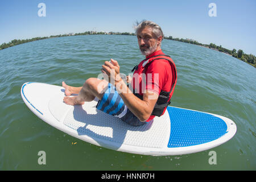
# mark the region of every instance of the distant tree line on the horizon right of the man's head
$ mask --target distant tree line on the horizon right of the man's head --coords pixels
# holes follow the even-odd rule
[[[213,43],[210,43],[209,45],[208,44],[201,44],[201,43],[197,42],[196,40],[179,39],[179,38],[174,39],[174,38],[172,38],[172,36],[164,37],[164,39],[175,40],[175,41],[185,42],[185,43],[189,43],[189,44],[196,44],[197,46],[204,46],[204,47],[207,47],[207,48],[210,48],[210,49],[214,49],[216,51],[224,52],[224,53],[227,53],[229,55],[232,55],[233,57],[236,57],[237,59],[240,59],[240,60],[244,61],[245,63],[249,63],[250,65],[253,65],[253,67],[256,68],[256,57],[252,54],[247,55],[241,49],[239,49],[238,51],[236,49],[233,49],[231,51],[231,50],[226,49],[224,47],[216,46]]]

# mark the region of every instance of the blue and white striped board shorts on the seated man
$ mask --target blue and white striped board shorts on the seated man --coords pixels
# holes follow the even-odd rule
[[[108,84],[104,96],[98,101],[96,108],[104,111],[104,113],[118,117],[132,126],[140,126],[146,123],[139,121],[139,119],[131,113],[117,90],[115,90],[115,87],[110,83]]]

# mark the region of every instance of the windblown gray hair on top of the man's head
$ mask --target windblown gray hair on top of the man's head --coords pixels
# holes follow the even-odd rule
[[[142,20],[141,23],[136,21],[136,25],[134,25],[135,34],[137,35],[138,30],[145,27],[151,27],[152,32],[156,35],[157,38],[159,38],[159,36],[162,36],[162,40],[164,39],[164,34],[161,27],[158,24],[148,20]]]

